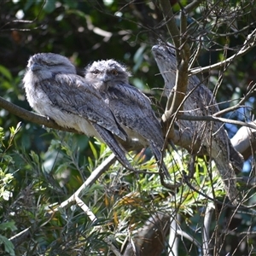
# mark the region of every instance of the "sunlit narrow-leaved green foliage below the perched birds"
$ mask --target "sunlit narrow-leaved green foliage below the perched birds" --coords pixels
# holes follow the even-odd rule
[[[54,136],[44,155],[16,149],[13,157],[8,159],[8,154],[4,153],[3,160],[8,159],[8,165],[12,160],[14,171],[6,173],[2,183],[9,180],[15,186],[5,183],[2,187],[4,193],[11,191],[13,196],[2,200],[4,226],[0,225],[0,229],[5,236],[29,230],[26,239],[18,242],[20,245],[15,247],[15,254],[11,255],[32,252],[44,255],[105,254],[108,247],[103,237],[112,237],[116,245],[121,247],[152,213],[178,209],[184,219],[189,219],[192,216],[195,218],[197,208],[204,205],[205,198],[186,186],[179,189],[176,195],[164,189],[160,185],[154,159],[145,162],[142,152],[132,156],[132,164],[147,170],[147,174],[127,172],[116,162],[97,183],[84,190],[83,201],[97,216],[95,222],[91,222],[78,205],[52,212],[61,201],[79,189],[95,166],[111,153],[104,144],[90,143],[93,160],[90,156],[87,161],[81,160],[79,148],[73,143],[73,135],[54,132]],[[183,156],[183,163],[186,159],[187,154]],[[172,177],[181,177],[172,154],[167,155],[166,161],[169,162]],[[210,183],[205,162],[199,159],[196,166],[193,185],[207,195],[212,194],[212,191],[204,191],[211,188],[211,185],[205,184]],[[216,195],[223,195],[219,178],[216,172],[213,173],[212,189]],[[19,183],[19,177],[24,176],[26,183]],[[4,239],[5,236],[3,242],[8,253],[10,241]]]

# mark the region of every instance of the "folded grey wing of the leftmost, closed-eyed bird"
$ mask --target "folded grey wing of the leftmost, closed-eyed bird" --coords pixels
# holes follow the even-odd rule
[[[57,108],[79,115],[125,140],[125,132],[121,131],[102,96],[83,78],[75,74],[56,74],[55,79],[45,79],[40,85]]]

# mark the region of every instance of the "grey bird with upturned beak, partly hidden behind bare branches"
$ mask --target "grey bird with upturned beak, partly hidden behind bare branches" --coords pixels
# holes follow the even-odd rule
[[[169,96],[171,91],[178,93],[178,88],[175,88],[177,73],[175,49],[171,44],[158,44],[154,45],[152,51],[160,73],[165,80],[166,96]],[[211,116],[219,111],[212,91],[202,84],[195,75],[189,77],[183,111],[187,115],[199,117]],[[235,172],[241,172],[243,159],[230,143],[224,125],[218,121],[191,121],[189,119],[179,119],[177,125],[180,134],[186,132],[191,138],[190,148],[187,148],[189,152],[204,149],[212,157],[230,201],[237,204],[239,193],[236,189]],[[194,150],[195,143],[201,144],[201,148]]]

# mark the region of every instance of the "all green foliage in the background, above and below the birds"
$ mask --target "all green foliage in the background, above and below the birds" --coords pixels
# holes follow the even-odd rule
[[[181,7],[170,2],[179,23]],[[183,6],[189,2],[180,1]],[[163,81],[156,75],[159,70],[150,49],[158,39],[170,38],[158,1],[4,0],[0,9],[0,92],[9,102],[29,109],[21,83],[26,61],[38,52],[55,52],[69,57],[80,71],[94,60],[125,62],[133,73],[131,83],[152,97],[156,112],[163,113]],[[194,66],[233,55],[255,28],[255,10],[255,3],[236,0],[203,1],[193,9],[187,15],[192,56],[201,49]],[[252,49],[228,67],[204,74],[205,84],[218,90],[218,102],[224,102],[221,108],[234,104],[255,80],[254,56]],[[232,119],[253,119],[254,96],[246,104],[249,111],[239,109]],[[96,216],[92,221],[79,204],[60,205],[108,158],[110,150],[81,135],[46,131],[23,120],[20,124],[5,110],[0,117],[1,255],[113,255],[109,241],[124,252],[159,212],[177,220],[177,235],[182,237],[179,255],[202,255],[208,211],[213,214],[212,255],[255,253],[253,210],[237,212],[225,205],[223,185],[207,158],[195,160],[195,173],[189,177],[193,170],[188,152],[169,148],[165,162],[172,182],[184,181],[174,192],[160,184],[148,150],[131,152],[131,164],[141,172],[128,172],[115,162],[80,196]],[[236,133],[236,125],[227,127],[231,135]],[[205,195],[223,204],[212,204]],[[253,189],[247,197],[253,205]],[[162,255],[168,250],[166,242]]]

